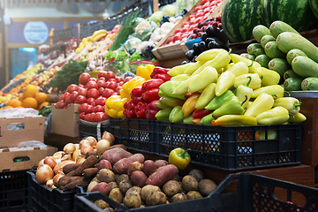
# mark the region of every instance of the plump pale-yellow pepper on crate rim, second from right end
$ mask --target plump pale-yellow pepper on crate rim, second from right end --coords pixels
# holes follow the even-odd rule
[[[289,112],[282,106],[261,112],[256,116],[259,125],[281,125],[290,118]]]

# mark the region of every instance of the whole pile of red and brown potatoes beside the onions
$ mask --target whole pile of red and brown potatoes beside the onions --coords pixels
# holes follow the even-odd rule
[[[204,178],[201,170],[191,170],[181,178],[175,165],[164,160],[145,161],[144,155],[133,155],[123,148],[105,151],[96,167],[97,174],[87,186],[87,193],[101,192],[127,208],[200,199],[216,188],[216,183]],[[105,201],[95,204],[110,209]]]

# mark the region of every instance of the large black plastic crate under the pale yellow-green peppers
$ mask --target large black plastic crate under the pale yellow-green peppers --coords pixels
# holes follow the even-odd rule
[[[238,171],[300,163],[301,125],[207,126],[157,122],[156,152],[191,148],[193,163]],[[256,132],[277,133],[274,140],[257,140]],[[267,133],[266,133],[267,134]]]

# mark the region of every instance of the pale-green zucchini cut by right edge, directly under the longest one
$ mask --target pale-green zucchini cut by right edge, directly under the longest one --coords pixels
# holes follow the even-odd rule
[[[309,57],[295,57],[292,60],[292,70],[301,77],[318,77],[318,64]]]

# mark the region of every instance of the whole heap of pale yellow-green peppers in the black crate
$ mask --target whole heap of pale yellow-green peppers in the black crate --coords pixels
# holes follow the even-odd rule
[[[159,87],[157,120],[196,125],[299,123],[300,102],[284,97],[277,72],[224,49],[210,49],[196,63],[178,65]],[[230,62],[233,63],[230,63]]]

